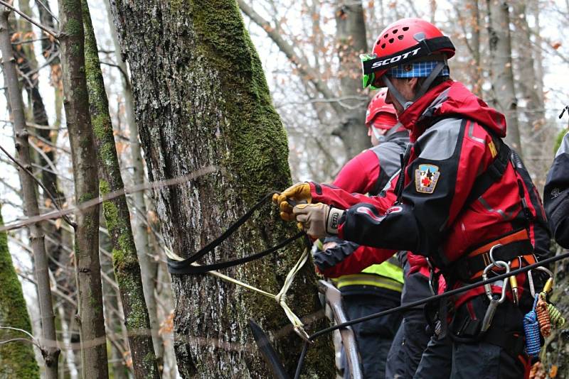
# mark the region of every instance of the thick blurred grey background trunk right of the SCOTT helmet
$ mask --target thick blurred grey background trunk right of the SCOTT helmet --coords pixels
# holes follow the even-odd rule
[[[506,141],[522,155],[518,122],[518,100],[512,72],[510,11],[507,1],[486,0],[494,106],[504,112],[508,123]]]

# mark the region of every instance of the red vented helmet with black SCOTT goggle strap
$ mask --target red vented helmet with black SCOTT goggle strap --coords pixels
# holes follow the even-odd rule
[[[432,23],[420,18],[403,18],[385,28],[373,45],[373,55],[362,55],[364,87],[391,67],[428,55],[454,55],[450,38]]]

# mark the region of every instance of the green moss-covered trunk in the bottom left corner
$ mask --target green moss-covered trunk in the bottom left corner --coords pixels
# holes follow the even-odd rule
[[[0,226],[4,225],[0,213]],[[23,299],[22,286],[18,280],[12,257],[8,251],[8,234],[0,232],[0,327],[22,329],[31,334],[31,323]],[[0,342],[9,339],[29,339],[21,331],[0,329]],[[1,378],[40,378],[40,370],[33,347],[26,341],[0,344]]]

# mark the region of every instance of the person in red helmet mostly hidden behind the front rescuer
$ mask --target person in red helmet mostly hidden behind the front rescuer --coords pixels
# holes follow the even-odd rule
[[[372,148],[352,158],[336,176],[332,185],[347,192],[377,195],[400,168],[400,155],[409,143],[409,131],[397,121],[393,106],[385,104],[385,91],[378,92],[368,105],[366,113],[368,136]],[[337,237],[324,239],[323,251],[314,253],[318,270],[326,270],[329,255],[346,256],[358,249],[358,244]],[[397,258],[364,268],[360,273],[335,278],[342,294],[342,303],[349,319],[398,307],[403,289],[403,270]],[[363,368],[363,378],[385,378],[385,361],[395,333],[401,323],[401,314],[378,317],[353,326]],[[346,368],[346,356],[342,351]],[[349,379],[349,370],[344,370]]]

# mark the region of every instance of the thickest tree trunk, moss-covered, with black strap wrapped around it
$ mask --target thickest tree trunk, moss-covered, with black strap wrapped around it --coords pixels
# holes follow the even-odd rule
[[[287,138],[272,106],[260,60],[235,0],[111,1],[131,72],[137,123],[151,180],[216,171],[156,189],[162,230],[174,253],[197,251],[272,188],[290,184]],[[225,241],[206,263],[244,256],[294,233],[270,205]],[[224,273],[276,293],[299,246]],[[208,275],[175,276],[175,349],[184,378],[267,378],[246,324],[272,334],[294,373],[302,341],[282,309],[265,297]],[[309,265],[287,303],[301,315],[320,308]],[[326,324],[319,313],[309,330]],[[309,350],[305,372],[334,375],[329,339]]]

